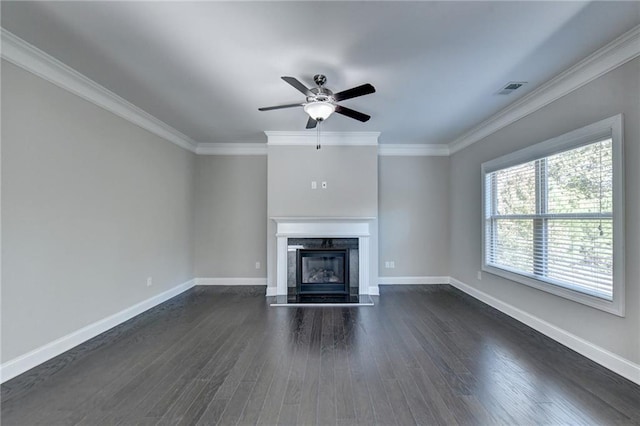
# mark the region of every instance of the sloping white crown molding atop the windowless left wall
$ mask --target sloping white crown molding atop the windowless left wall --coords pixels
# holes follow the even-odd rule
[[[1,57],[191,152],[196,142],[13,33],[0,28]]]

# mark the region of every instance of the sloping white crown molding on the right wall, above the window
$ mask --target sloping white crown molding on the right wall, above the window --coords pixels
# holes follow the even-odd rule
[[[449,143],[454,154],[640,56],[640,25]]]

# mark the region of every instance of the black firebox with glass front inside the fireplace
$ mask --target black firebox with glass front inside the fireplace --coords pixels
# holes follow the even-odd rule
[[[349,249],[298,249],[299,295],[349,294]]]

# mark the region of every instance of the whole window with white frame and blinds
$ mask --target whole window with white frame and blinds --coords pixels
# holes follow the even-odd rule
[[[485,271],[624,315],[622,116],[482,174]]]

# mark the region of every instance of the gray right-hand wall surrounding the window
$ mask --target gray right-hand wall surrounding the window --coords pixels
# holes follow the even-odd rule
[[[640,362],[640,59],[594,80],[451,157],[451,275],[525,312]],[[480,164],[613,115],[624,114],[626,317],[483,274]]]

